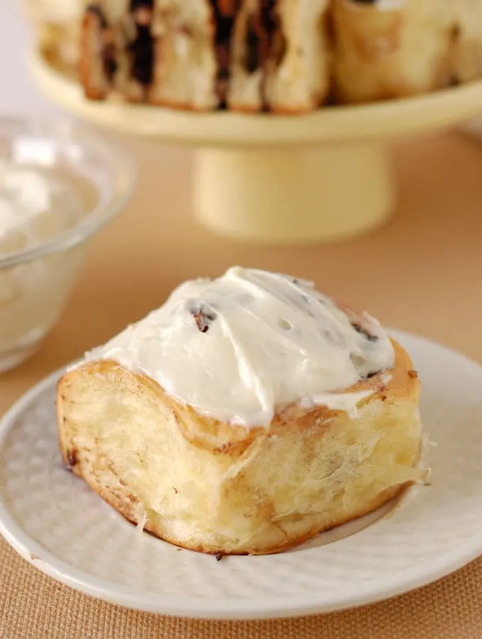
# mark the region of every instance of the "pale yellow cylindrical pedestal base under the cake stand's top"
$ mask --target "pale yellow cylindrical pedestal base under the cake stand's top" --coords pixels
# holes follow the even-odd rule
[[[197,152],[194,211],[225,237],[342,239],[381,225],[394,205],[390,165],[376,143]]]

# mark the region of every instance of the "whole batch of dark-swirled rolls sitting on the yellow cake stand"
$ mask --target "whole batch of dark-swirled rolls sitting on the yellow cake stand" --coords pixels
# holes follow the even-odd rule
[[[295,115],[482,77],[479,0],[405,0],[383,10],[361,0],[129,6],[128,0],[86,3],[82,20],[52,22],[31,10],[27,16],[45,59],[78,78],[94,100]]]

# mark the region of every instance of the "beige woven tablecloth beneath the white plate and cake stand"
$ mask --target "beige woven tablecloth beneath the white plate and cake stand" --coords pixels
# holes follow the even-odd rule
[[[33,359],[0,376],[0,413],[46,373],[160,305],[181,280],[216,275],[232,263],[312,278],[388,326],[482,361],[482,146],[475,141],[452,133],[399,146],[394,159],[400,204],[392,222],[357,241],[310,248],[215,239],[191,224],[189,153],[125,143],[142,163],[138,194],[94,241],[55,331]],[[482,559],[424,589],[358,610],[209,622],[90,599],[45,577],[0,540],[1,639],[158,637],[481,638]]]

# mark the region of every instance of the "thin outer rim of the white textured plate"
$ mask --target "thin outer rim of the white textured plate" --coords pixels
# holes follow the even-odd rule
[[[409,332],[393,330],[390,330],[389,332],[396,339],[401,338],[400,341],[403,341],[403,337],[408,337],[409,339],[414,339],[422,344],[428,344],[444,349],[450,354],[478,366],[478,368],[481,368],[482,370],[482,366],[478,364],[478,362],[431,339],[420,337]],[[43,381],[40,381],[40,383],[33,386],[30,391],[23,395],[10,408],[10,410],[7,411],[0,422],[0,448],[3,446],[4,439],[9,434],[11,426],[13,422],[15,422],[17,415],[26,408],[26,406],[30,403],[30,400],[41,395],[46,388],[51,387],[65,371],[65,368],[65,366],[59,368],[57,371],[47,376],[47,378],[44,378]],[[376,522],[373,525],[376,525]],[[23,532],[23,529],[11,517],[1,494],[0,534],[7,542],[9,542],[18,554],[21,555],[23,559],[26,559],[30,564],[33,564],[49,577],[52,577],[53,579],[56,579],[62,584],[66,584],[77,591],[81,591],[84,594],[89,594],[97,599],[103,599],[104,601],[109,601],[120,606],[135,608],[142,611],[170,616],[204,619],[286,618],[364,606],[369,603],[376,603],[377,601],[383,601],[390,599],[393,596],[419,589],[422,586],[436,581],[437,579],[447,577],[448,574],[451,574],[455,570],[468,564],[482,553],[481,537],[481,541],[478,545],[474,545],[469,548],[464,547],[460,550],[460,552],[452,555],[452,560],[447,561],[443,565],[437,564],[437,567],[434,569],[427,569],[426,565],[422,565],[418,572],[415,570],[409,574],[404,574],[400,579],[398,579],[398,581],[396,581],[396,583],[394,583],[393,578],[383,579],[378,581],[376,586],[366,588],[363,595],[347,596],[344,599],[340,598],[340,596],[336,596],[331,601],[330,599],[325,598],[323,602],[320,602],[315,593],[309,598],[306,597],[303,603],[300,603],[298,600],[293,601],[292,597],[286,597],[286,599],[281,599],[279,597],[265,597],[261,600],[240,599],[235,603],[232,601],[229,603],[216,601],[213,605],[213,603],[208,603],[203,599],[180,599],[179,597],[159,596],[158,594],[149,593],[144,590],[135,591],[135,589],[93,577],[89,573],[82,572],[82,570],[69,566],[62,560],[57,559],[57,557],[52,555],[51,552],[45,550],[43,546],[35,542],[35,540],[26,534],[26,532]],[[42,556],[41,561],[38,560],[36,555]],[[113,586],[115,586],[115,593],[113,593]]]

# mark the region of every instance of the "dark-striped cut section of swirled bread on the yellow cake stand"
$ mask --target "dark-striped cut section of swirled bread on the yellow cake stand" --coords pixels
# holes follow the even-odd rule
[[[303,113],[328,92],[328,0],[98,0],[82,28],[86,96]]]

